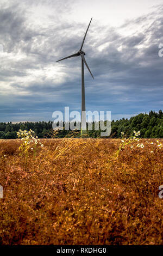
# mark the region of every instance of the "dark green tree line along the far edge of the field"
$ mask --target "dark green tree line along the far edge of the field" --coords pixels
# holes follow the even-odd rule
[[[1,139],[15,139],[18,130],[32,129],[35,135],[39,138],[50,138],[52,135],[52,121],[39,122],[21,122],[21,123],[0,123],[0,138]],[[110,138],[120,138],[121,132],[124,132],[126,137],[129,137],[133,131],[140,131],[141,138],[163,138],[163,113],[150,111],[149,114],[141,113],[130,119],[122,118],[120,120],[111,121]],[[62,138],[68,135],[70,131],[59,131],[58,137]],[[93,129],[87,131],[88,136],[92,138],[100,137],[101,130],[95,130],[95,122],[93,122]],[[80,133],[78,133],[79,135]]]

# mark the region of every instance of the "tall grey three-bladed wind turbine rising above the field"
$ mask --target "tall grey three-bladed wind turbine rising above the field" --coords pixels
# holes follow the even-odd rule
[[[92,18],[91,18],[91,21],[92,21]],[[91,23],[90,21],[90,23]],[[83,133],[86,132],[86,112],[85,112],[85,87],[84,87],[84,63],[86,65],[86,68],[89,70],[92,78],[94,79],[92,73],[91,73],[91,70],[89,68],[89,66],[87,65],[86,63],[86,60],[85,60],[85,52],[82,51],[82,48],[83,48],[83,45],[84,45],[84,41],[85,41],[85,38],[86,38],[86,34],[87,34],[87,31],[90,27],[90,23],[89,23],[89,26],[87,27],[86,29],[86,32],[85,32],[85,35],[84,35],[84,38],[83,38],[83,42],[82,42],[82,45],[80,47],[80,50],[77,52],[77,53],[74,53],[70,56],[67,56],[65,58],[62,58],[62,59],[59,59],[57,60],[57,62],[60,62],[61,60],[64,60],[64,59],[68,59],[68,58],[72,58],[72,57],[77,57],[77,56],[80,56],[82,58],[82,125],[81,125],[81,136],[82,136],[82,131]]]

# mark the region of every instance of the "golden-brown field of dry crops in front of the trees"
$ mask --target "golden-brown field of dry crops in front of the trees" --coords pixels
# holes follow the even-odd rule
[[[162,245],[160,142],[1,140],[1,245]]]

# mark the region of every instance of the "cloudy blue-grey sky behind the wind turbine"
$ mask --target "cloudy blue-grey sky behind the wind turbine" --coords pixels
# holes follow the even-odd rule
[[[10,0],[0,2],[0,121],[53,120],[81,107],[83,50],[86,109],[111,119],[162,109],[162,0]]]

